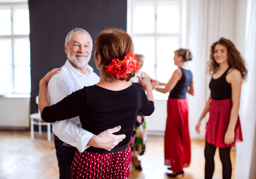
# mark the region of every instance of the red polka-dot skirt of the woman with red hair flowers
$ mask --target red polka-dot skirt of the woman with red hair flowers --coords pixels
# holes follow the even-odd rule
[[[115,153],[93,153],[76,150],[71,179],[128,179],[131,147]]]

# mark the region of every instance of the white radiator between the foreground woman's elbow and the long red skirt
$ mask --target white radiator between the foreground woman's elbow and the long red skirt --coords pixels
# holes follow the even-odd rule
[[[154,113],[150,116],[146,116],[147,131],[151,134],[153,134],[153,132],[163,133],[166,128],[167,99],[154,100],[154,107]]]

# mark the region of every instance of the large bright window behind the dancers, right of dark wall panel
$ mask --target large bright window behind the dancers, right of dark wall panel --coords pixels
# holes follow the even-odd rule
[[[145,56],[142,71],[163,83],[177,69],[173,52],[181,46],[180,4],[180,0],[130,0],[128,4],[134,52]],[[154,91],[154,95],[163,94]]]

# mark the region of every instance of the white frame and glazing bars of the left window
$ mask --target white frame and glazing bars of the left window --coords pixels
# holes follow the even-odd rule
[[[16,66],[29,66],[30,65],[15,65],[15,39],[18,38],[27,38],[30,41],[29,35],[15,35],[14,34],[14,11],[15,8],[18,9],[20,7],[25,7],[29,10],[29,4],[28,3],[0,3],[0,9],[5,9],[4,7],[9,7],[11,10],[11,35],[0,35],[0,39],[11,39],[12,41],[12,88],[13,91],[11,92],[11,94],[30,94],[31,92],[27,93],[27,92],[17,92],[17,89],[15,87],[15,67]]]

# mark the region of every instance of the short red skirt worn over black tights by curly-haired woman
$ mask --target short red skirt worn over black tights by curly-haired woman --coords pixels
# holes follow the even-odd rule
[[[232,99],[213,100],[209,108],[209,121],[206,126],[205,139],[215,147],[235,147],[235,142],[243,141],[240,119],[236,122],[235,140],[233,144],[224,144],[225,133],[230,121]]]

